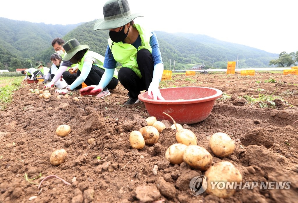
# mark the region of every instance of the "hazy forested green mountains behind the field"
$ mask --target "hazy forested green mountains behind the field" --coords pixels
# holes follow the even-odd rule
[[[76,38],[90,50],[105,54],[108,30],[93,31],[96,20],[73,25],[52,25],[0,18],[0,69],[29,68],[36,61],[51,65],[51,42]],[[279,54],[253,47],[224,42],[201,34],[155,31],[165,69],[188,69],[197,64],[208,68],[226,68],[228,61],[239,58],[238,67],[267,67]],[[120,65],[120,64],[119,64]]]

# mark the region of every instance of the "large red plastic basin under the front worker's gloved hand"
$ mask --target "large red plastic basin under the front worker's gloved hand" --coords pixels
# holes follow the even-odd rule
[[[173,121],[162,112],[173,117],[176,123],[192,124],[208,118],[215,100],[222,96],[222,91],[208,87],[175,87],[160,89],[163,100],[148,99],[148,93],[139,94],[150,116],[157,120]],[[182,100],[183,99],[183,100]]]

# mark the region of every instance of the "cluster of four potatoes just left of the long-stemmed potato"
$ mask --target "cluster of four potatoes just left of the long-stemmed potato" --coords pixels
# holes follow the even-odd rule
[[[150,116],[145,119],[147,126],[141,129],[131,131],[129,134],[129,142],[134,149],[143,149],[145,145],[152,146],[159,140],[159,133],[166,128],[164,123],[158,121],[156,117]]]

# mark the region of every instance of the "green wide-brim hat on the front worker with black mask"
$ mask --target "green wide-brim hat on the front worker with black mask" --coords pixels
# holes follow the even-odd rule
[[[131,13],[127,0],[109,0],[103,6],[103,16],[96,21],[94,30],[119,28],[144,15]]]

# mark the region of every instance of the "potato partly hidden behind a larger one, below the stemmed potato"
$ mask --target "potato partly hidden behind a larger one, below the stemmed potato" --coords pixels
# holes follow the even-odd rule
[[[170,161],[171,164],[181,164],[183,162],[183,152],[187,145],[181,143],[175,143],[167,148],[166,159]]]

